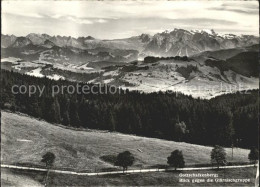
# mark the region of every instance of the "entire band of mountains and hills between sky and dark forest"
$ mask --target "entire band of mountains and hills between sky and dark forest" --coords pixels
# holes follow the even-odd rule
[[[1,67],[37,77],[202,98],[259,87],[256,36],[173,29],[115,40],[34,33],[1,37]],[[232,89],[210,89],[220,85]]]

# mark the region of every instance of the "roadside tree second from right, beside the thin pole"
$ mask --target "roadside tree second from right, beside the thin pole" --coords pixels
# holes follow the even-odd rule
[[[216,163],[218,168],[220,165],[226,164],[226,151],[223,147],[216,145],[211,151],[211,163]]]

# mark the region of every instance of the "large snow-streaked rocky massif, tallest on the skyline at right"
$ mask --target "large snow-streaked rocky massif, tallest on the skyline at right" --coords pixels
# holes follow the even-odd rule
[[[219,35],[213,29],[191,30],[175,28],[155,34],[144,53],[155,56],[191,56],[203,51],[244,47],[258,43],[255,36]]]

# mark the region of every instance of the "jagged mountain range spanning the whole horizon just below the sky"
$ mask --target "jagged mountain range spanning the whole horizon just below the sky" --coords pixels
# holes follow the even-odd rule
[[[244,47],[258,43],[252,35],[220,35],[214,30],[173,29],[154,36],[142,34],[126,39],[100,40],[91,36],[49,36],[47,34],[28,34],[26,37],[2,35],[2,48],[21,48],[30,44],[43,47],[73,47],[82,50],[95,48],[137,50],[140,56],[191,56],[203,51]],[[50,45],[46,45],[49,43]]]

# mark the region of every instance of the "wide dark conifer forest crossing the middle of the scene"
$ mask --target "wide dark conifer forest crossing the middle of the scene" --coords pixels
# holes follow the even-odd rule
[[[258,90],[211,100],[175,93],[58,94],[53,85],[76,85],[1,71],[1,108],[66,126],[102,129],[202,145],[258,146]],[[80,83],[83,84],[83,83]],[[41,97],[12,94],[13,85],[46,87]],[[91,85],[89,85],[91,86]]]

